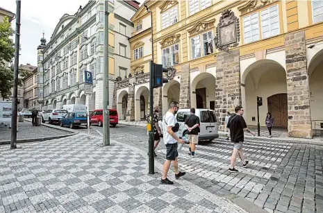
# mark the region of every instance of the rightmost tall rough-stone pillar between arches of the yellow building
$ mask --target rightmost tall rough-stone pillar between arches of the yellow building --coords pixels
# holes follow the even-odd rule
[[[305,32],[285,35],[288,95],[288,135],[311,138],[310,101]]]

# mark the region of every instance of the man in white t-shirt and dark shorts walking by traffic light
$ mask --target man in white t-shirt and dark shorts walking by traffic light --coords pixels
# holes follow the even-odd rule
[[[169,110],[166,112],[163,118],[163,141],[166,146],[166,161],[163,166],[163,177],[160,180],[160,184],[172,185],[174,182],[168,180],[167,173],[170,167],[170,163],[173,163],[175,178],[179,179],[185,175],[185,172],[179,171],[177,157],[177,142],[184,144],[183,139],[179,138],[179,123],[176,121],[175,114],[179,110],[179,103],[172,101],[169,104]]]

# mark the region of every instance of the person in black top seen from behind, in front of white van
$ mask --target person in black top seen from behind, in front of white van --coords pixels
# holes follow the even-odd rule
[[[188,155],[194,157],[195,144],[199,143],[199,117],[195,115],[195,109],[190,109],[190,116],[185,120],[185,128],[188,130],[188,140],[190,141],[190,148]]]

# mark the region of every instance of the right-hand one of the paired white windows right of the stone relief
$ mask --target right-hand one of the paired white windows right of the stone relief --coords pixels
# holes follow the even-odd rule
[[[279,11],[278,5],[271,6],[265,10],[261,10],[261,33],[262,38],[279,35]]]

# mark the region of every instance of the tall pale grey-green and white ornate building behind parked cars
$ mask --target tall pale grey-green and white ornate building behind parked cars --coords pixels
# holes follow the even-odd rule
[[[110,103],[114,82],[130,71],[128,37],[133,31],[129,19],[139,6],[136,1],[109,1]],[[38,56],[43,71],[43,109],[80,103],[89,110],[103,108],[104,1],[89,1],[75,15],[63,15],[51,40]],[[84,91],[85,71],[93,74],[93,93]],[[121,76],[119,76],[121,75]],[[118,78],[118,79],[119,79]],[[112,104],[111,104],[112,105]]]

